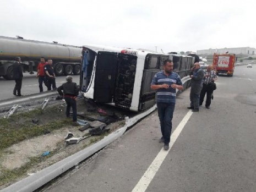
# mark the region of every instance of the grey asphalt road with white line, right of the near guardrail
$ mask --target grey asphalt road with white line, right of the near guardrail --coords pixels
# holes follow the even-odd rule
[[[189,90],[179,95],[169,151],[154,112],[43,191],[256,191],[255,74],[244,65],[219,76],[199,113],[187,109]]]

